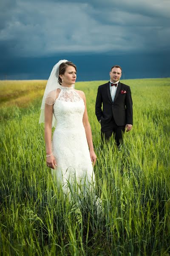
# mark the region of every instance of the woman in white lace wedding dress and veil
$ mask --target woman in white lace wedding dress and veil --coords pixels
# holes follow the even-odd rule
[[[95,183],[96,163],[85,94],[74,89],[77,67],[60,60],[51,71],[42,99],[39,123],[45,122],[46,163],[66,193]],[[52,138],[52,127],[56,127]],[[52,143],[51,143],[52,138]],[[86,188],[85,188],[86,187]]]

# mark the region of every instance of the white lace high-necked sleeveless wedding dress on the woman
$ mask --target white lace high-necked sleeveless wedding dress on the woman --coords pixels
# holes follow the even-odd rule
[[[91,163],[85,128],[82,122],[85,105],[73,87],[60,86],[53,106],[57,125],[52,139],[52,152],[57,160],[51,169],[57,185],[70,192],[75,184],[87,189],[94,187],[95,177]]]

